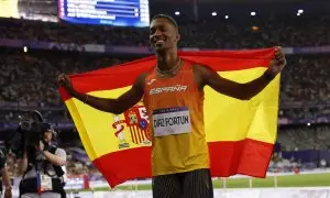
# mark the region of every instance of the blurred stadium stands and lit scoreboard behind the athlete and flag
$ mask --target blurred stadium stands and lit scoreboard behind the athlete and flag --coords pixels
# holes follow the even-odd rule
[[[22,112],[40,110],[59,132],[68,177],[80,179],[73,185],[105,182],[84,151],[55,79],[151,55],[148,23],[156,13],[177,20],[183,51],[283,46],[288,64],[268,172],[328,173],[329,0],[1,0],[0,140],[13,133]],[[15,179],[11,154],[8,167]]]

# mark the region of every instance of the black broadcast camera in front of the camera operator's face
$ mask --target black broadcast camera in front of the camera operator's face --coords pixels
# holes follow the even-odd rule
[[[53,131],[50,123],[44,122],[43,116],[34,110],[19,116],[19,127],[7,143],[16,156],[21,156],[26,146],[38,146],[45,131]],[[53,134],[53,138],[54,138]]]

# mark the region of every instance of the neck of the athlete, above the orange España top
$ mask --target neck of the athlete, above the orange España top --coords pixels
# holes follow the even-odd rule
[[[156,54],[157,67],[162,72],[170,70],[178,63],[177,52],[167,52],[164,54]]]

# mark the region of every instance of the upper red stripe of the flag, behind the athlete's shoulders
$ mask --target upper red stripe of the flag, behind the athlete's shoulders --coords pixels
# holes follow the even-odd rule
[[[249,51],[180,52],[179,55],[183,59],[198,65],[207,65],[217,72],[224,72],[268,67],[274,52],[274,48],[265,48]],[[151,56],[118,66],[70,75],[70,80],[74,87],[81,92],[111,90],[131,86],[140,74],[148,73],[155,65],[155,56]],[[70,98],[64,89],[59,89],[59,92],[64,101]]]

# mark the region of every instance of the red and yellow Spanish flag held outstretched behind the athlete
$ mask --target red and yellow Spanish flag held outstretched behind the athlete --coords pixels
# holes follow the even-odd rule
[[[275,48],[179,52],[182,59],[207,65],[228,79],[248,82],[267,69]],[[102,98],[117,98],[135,78],[155,67],[155,56],[72,75],[74,87]],[[59,88],[89,158],[111,187],[151,177],[151,136],[142,102],[122,114],[94,109]],[[276,140],[279,75],[249,101],[205,88],[206,139],[212,176],[264,177]]]

